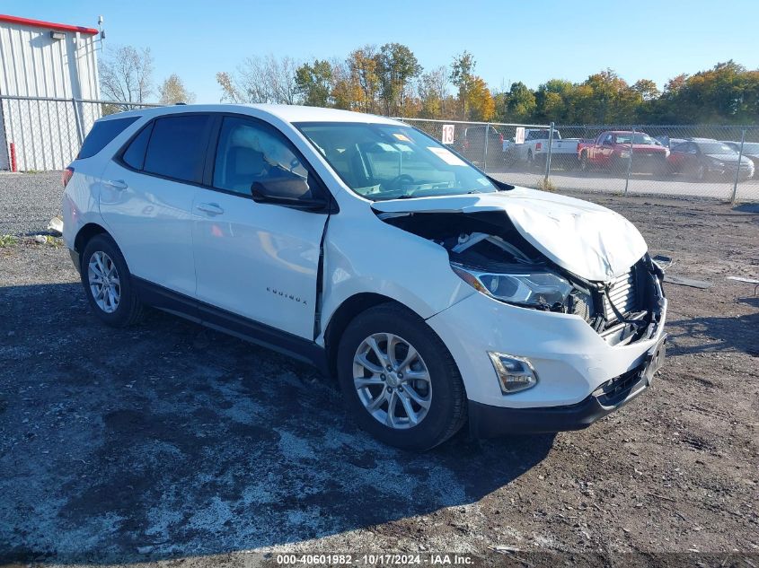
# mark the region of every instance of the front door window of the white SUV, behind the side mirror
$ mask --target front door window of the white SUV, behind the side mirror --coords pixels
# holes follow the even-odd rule
[[[245,118],[226,117],[216,148],[214,187],[249,196],[253,184],[272,196],[313,197],[308,170],[281,135]]]

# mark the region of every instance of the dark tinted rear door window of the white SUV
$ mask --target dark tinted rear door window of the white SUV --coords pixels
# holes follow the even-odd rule
[[[206,115],[158,118],[147,145],[144,170],[182,181],[199,181],[206,152]]]

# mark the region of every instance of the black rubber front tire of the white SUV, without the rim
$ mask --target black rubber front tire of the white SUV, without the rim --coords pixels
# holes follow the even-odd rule
[[[432,402],[428,414],[416,426],[394,430],[370,415],[353,384],[353,356],[358,345],[375,333],[401,336],[417,350],[432,380]],[[423,319],[401,307],[383,305],[359,314],[340,338],[337,358],[338,380],[343,397],[357,423],[384,443],[405,450],[428,450],[446,441],[461,424],[465,412],[463,383],[446,346]],[[458,407],[458,410],[457,410]]]

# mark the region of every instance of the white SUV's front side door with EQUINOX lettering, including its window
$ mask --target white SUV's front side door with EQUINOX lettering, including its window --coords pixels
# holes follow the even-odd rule
[[[292,188],[300,188],[304,199],[326,197],[326,189],[274,127],[240,116],[219,120],[207,187],[197,189],[192,206],[198,299],[313,340],[327,214],[257,203],[252,187],[291,198],[298,197]]]

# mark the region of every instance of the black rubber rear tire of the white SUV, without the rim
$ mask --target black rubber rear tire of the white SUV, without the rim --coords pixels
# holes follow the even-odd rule
[[[90,283],[87,275],[90,258],[92,258],[93,254],[98,251],[107,254],[116,265],[116,270],[119,272],[121,296],[119,298],[119,307],[112,313],[106,313],[101,310],[95,302],[93,293],[90,290]],[[90,307],[95,312],[95,315],[110,326],[117,328],[127,326],[132,318],[135,308],[134,304],[137,299],[134,293],[132,278],[127,267],[127,261],[124,259],[124,256],[121,254],[119,247],[113,239],[108,235],[99,234],[95,235],[89,240],[89,242],[87,242],[87,245],[84,247],[84,252],[82,253],[80,275],[82,278],[82,285],[84,286],[84,293],[87,295],[87,301],[90,303]]]

